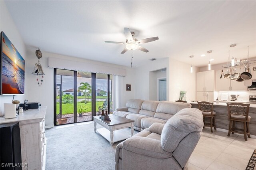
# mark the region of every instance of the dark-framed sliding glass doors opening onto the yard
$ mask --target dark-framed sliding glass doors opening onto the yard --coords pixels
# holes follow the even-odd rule
[[[112,113],[112,75],[54,69],[54,125]]]

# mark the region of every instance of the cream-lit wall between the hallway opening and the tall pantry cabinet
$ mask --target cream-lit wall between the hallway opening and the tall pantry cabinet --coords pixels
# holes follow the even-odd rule
[[[167,84],[169,101],[180,99],[180,91],[182,90],[187,91],[187,101],[196,100],[196,72],[199,71],[199,68],[193,67],[193,73],[190,73],[190,66],[190,64],[169,59],[169,86]]]

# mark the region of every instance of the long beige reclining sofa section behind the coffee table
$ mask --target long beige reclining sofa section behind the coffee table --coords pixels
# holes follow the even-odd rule
[[[126,107],[116,109],[113,115],[134,120],[134,129],[142,131],[153,123],[166,123],[178,111],[190,107],[190,103],[131,99]]]

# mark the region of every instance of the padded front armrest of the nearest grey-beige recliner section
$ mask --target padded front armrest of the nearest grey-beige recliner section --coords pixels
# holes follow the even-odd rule
[[[170,158],[171,152],[166,152],[162,149],[161,141],[145,138],[141,136],[133,136],[123,142],[123,149],[134,152],[136,154],[143,154],[154,158]]]

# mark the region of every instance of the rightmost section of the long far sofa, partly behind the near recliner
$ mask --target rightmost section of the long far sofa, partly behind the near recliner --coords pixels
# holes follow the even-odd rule
[[[163,115],[161,113],[166,113],[170,115],[175,115],[178,111],[184,108],[190,108],[190,103],[181,103],[181,102],[172,102],[172,101],[160,101],[156,108],[156,114],[154,115],[155,118],[168,120],[172,116]]]

